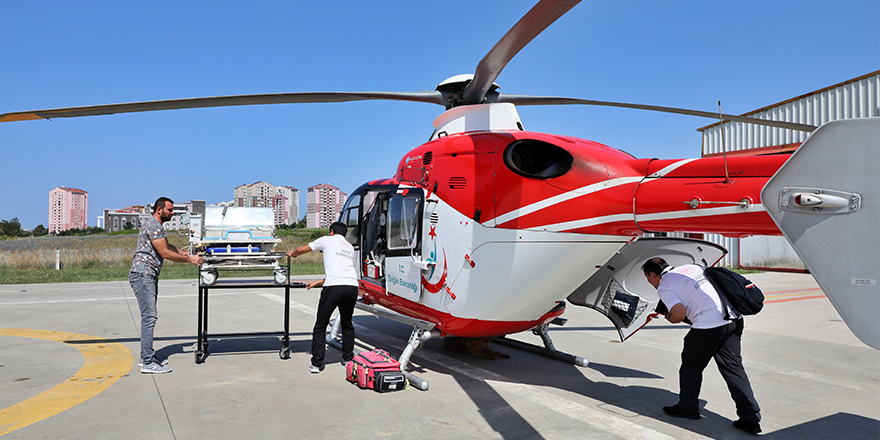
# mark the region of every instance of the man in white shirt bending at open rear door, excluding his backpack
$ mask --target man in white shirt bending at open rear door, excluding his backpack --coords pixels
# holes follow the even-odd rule
[[[726,306],[703,275],[701,266],[671,267],[662,258],[652,258],[642,265],[642,272],[666,305],[666,320],[677,324],[687,318],[692,322],[681,352],[678,403],[664,406],[663,411],[673,417],[700,419],[703,370],[714,358],[721,377],[727,382],[730,396],[736,402],[739,419],[733,422],[733,426],[750,434],[761,432],[761,409],[752,393],[740,353],[742,316],[730,310],[736,319],[724,319]]]

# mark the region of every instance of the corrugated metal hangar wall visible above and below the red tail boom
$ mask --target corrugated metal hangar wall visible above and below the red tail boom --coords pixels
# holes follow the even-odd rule
[[[880,71],[873,72],[826,89],[794,98],[779,104],[748,113],[760,119],[822,125],[835,119],[866,118],[880,116]],[[725,122],[700,129],[703,133],[703,155],[722,153],[725,150],[741,151],[753,148],[797,144],[805,141],[809,133],[782,128],[759,126],[743,122]],[[722,144],[722,135],[724,143]],[[744,265],[758,261],[772,261],[767,267],[803,270],[791,245],[784,238],[767,240],[739,240],[717,234],[706,235],[705,240],[720,244],[730,251],[719,265],[738,268],[742,255]],[[771,245],[772,244],[772,245]]]

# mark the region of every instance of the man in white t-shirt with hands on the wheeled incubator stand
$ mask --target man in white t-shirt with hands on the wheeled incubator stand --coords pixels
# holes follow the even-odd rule
[[[323,286],[318,301],[318,316],[312,329],[312,362],[309,371],[320,373],[324,369],[327,325],[333,310],[339,309],[342,329],[342,363],[354,357],[354,324],[351,315],[357,302],[358,276],[354,266],[354,248],[345,240],[348,227],[345,223],[330,225],[330,235],[321,237],[307,245],[287,253],[291,258],[311,251],[324,253],[324,279],[308,283],[306,289]]]

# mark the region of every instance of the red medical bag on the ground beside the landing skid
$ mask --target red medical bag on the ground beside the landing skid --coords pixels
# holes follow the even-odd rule
[[[345,365],[345,379],[380,393],[402,390],[406,386],[400,362],[380,348],[356,354]]]

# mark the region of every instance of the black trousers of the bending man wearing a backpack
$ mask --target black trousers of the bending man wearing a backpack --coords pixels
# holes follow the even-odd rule
[[[743,320],[738,319],[720,327],[691,329],[688,332],[684,337],[684,350],[681,352],[681,369],[678,370],[681,387],[679,408],[687,412],[699,411],[703,370],[709,364],[709,359],[714,358],[721,377],[727,382],[730,397],[736,402],[736,414],[745,421],[761,421],[761,408],[758,407],[749,377],[742,365],[742,331]]]

